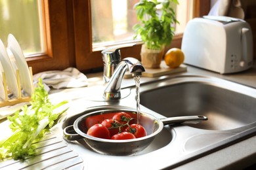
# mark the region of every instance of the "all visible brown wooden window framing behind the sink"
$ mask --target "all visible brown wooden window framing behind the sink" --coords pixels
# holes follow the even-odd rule
[[[101,51],[93,51],[91,0],[42,0],[45,27],[45,54],[28,58],[33,73],[76,67],[83,73],[100,71]],[[210,0],[194,0],[193,17],[209,12]],[[182,34],[175,35],[171,46],[181,48]],[[123,48],[122,58],[140,59],[141,44]]]

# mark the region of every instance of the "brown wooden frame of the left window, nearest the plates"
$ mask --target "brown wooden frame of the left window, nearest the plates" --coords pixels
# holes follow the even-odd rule
[[[71,0],[42,0],[45,53],[26,58],[33,74],[75,67]]]

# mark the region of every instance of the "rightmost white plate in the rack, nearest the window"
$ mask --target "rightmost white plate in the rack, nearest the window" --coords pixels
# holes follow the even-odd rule
[[[8,47],[11,50],[20,71],[20,85],[22,89],[28,93],[28,95],[32,94],[33,86],[32,86],[32,77],[30,75],[30,69],[28,68],[28,63],[24,57],[22,49],[20,48],[20,44],[15,39],[12,34],[8,35]]]

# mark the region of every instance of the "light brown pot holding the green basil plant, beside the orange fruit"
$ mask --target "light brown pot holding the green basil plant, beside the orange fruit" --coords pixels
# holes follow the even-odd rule
[[[163,59],[163,50],[151,50],[143,44],[140,51],[141,63],[145,68],[158,69],[160,68],[161,60]]]

